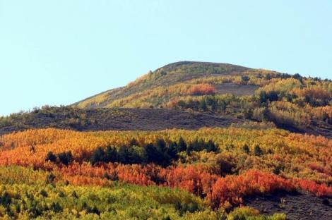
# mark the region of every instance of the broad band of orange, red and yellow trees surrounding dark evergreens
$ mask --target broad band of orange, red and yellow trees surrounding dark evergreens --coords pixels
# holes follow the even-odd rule
[[[236,136],[237,138],[233,138]],[[283,176],[292,178],[296,175],[302,180],[287,181],[272,173],[257,170],[239,170],[239,176],[215,175],[214,166],[196,164],[188,166],[169,166],[162,168],[155,164],[124,165],[99,164],[92,166],[85,162],[97,147],[128,145],[135,138],[143,146],[163,138],[174,142],[184,137],[192,142],[198,137],[213,140],[220,149],[230,143],[234,144],[223,153],[223,159],[237,162],[237,151],[244,143],[260,144],[263,152],[273,149],[273,153],[261,157],[246,154],[250,167],[268,171],[271,161],[285,166]],[[240,141],[238,141],[240,140]],[[257,142],[259,140],[259,142]],[[331,195],[332,189],[326,184],[307,181],[314,177],[319,183],[330,183],[332,163],[332,140],[322,136],[300,135],[282,130],[242,130],[238,128],[203,128],[200,130],[163,130],[158,132],[107,131],[107,132],[73,132],[70,130],[43,129],[27,130],[22,133],[4,135],[0,138],[3,147],[0,149],[0,165],[32,166],[57,173],[63,181],[73,185],[107,185],[110,181],[122,181],[137,185],[160,185],[181,188],[191,193],[207,197],[215,207],[230,204],[241,204],[245,195],[271,193],[275,190],[293,190],[301,188],[316,195]],[[233,149],[234,148],[234,149]],[[69,166],[45,161],[47,152],[54,154],[71,150],[73,163]],[[198,152],[197,152],[198,154]],[[209,157],[214,157],[211,154]],[[227,156],[228,155],[228,156]],[[263,157],[265,157],[263,159]],[[298,171],[293,171],[292,166]],[[308,169],[308,167],[310,169]],[[314,173],[313,173],[314,172]],[[304,173],[304,174],[303,174]],[[306,176],[307,175],[307,176]],[[324,175],[324,177],[322,177]]]

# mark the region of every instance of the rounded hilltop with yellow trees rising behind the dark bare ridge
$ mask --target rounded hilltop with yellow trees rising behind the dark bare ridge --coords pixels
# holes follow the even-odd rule
[[[331,80],[225,63],[171,63],[73,106],[212,112],[327,137],[332,130]]]

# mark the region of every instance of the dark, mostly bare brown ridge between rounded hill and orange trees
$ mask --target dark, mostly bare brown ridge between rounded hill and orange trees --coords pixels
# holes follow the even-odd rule
[[[164,130],[229,127],[244,120],[204,112],[177,109],[78,109],[45,106],[34,111],[0,118],[0,135],[35,128],[71,130]]]

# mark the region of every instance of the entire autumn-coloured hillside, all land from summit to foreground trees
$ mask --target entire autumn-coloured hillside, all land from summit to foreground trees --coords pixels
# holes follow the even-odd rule
[[[332,81],[178,62],[0,117],[0,219],[332,218]]]

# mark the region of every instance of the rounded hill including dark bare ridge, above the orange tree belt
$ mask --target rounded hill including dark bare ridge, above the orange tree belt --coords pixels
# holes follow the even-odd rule
[[[0,130],[196,129],[253,121],[331,137],[331,97],[332,82],[327,79],[184,61],[68,107],[46,106],[2,117]],[[175,117],[177,120],[168,120]]]

